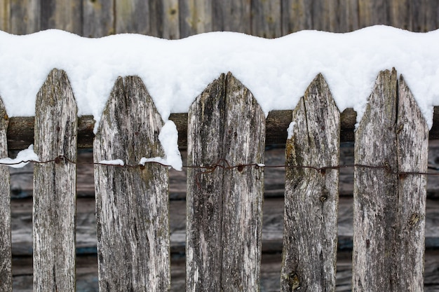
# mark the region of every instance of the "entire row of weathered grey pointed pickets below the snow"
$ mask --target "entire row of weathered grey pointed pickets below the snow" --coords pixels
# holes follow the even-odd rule
[[[290,121],[281,291],[335,291],[341,122],[321,74]],[[187,123],[187,291],[258,291],[264,113],[229,73],[196,98]],[[74,291],[78,118],[64,71],[39,91],[34,125],[34,291]],[[100,291],[170,288],[168,167],[154,159],[162,126],[142,80],[118,78],[93,143]],[[353,291],[423,291],[427,152],[403,77],[381,71],[355,134]],[[101,163],[118,159],[125,164]],[[0,172],[0,290],[12,291],[9,175]]]

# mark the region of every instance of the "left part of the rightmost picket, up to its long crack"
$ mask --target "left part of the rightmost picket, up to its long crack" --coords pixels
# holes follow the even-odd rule
[[[396,280],[398,170],[396,71],[381,71],[356,131],[353,202],[353,291],[393,291]]]

